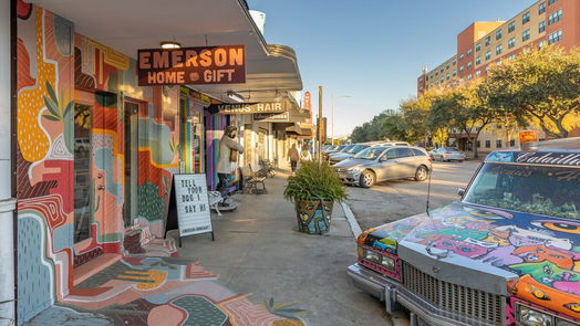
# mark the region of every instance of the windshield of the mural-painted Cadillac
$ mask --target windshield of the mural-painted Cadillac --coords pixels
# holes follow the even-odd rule
[[[464,201],[579,220],[580,169],[485,164]]]

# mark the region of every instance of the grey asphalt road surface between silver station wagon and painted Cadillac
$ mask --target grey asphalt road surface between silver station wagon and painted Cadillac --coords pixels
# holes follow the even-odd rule
[[[457,189],[466,187],[480,161],[433,162],[432,209],[457,200]],[[371,189],[348,187],[349,206],[362,230],[425,212],[428,181],[387,181]]]

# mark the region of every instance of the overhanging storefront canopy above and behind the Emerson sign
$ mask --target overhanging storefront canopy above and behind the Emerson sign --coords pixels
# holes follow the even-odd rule
[[[75,31],[133,59],[163,41],[183,46],[246,45],[246,83],[191,85],[222,102],[229,91],[247,102],[283,99],[302,90],[294,51],[267,44],[244,0],[31,0],[75,24]]]

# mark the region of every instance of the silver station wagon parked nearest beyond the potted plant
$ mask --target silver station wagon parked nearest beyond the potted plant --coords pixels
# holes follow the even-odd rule
[[[393,179],[423,181],[431,172],[431,158],[420,147],[377,146],[336,164],[334,169],[343,182],[370,188]]]

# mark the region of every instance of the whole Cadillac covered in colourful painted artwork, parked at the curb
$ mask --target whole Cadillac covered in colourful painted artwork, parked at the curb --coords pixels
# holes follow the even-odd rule
[[[580,138],[490,154],[462,199],[362,232],[355,286],[412,325],[580,325]]]

